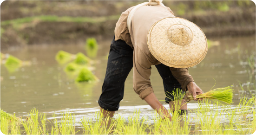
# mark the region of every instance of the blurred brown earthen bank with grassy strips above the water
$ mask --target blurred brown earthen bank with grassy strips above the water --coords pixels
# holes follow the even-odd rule
[[[113,36],[122,12],[147,0],[5,0],[0,5],[0,49],[11,46],[84,44]],[[251,0],[164,0],[177,17],[208,38],[256,33]]]

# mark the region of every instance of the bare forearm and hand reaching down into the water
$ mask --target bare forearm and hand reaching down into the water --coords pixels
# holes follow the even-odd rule
[[[169,118],[171,120],[169,111],[158,101],[158,98],[154,93],[146,96],[144,100],[152,107],[152,109],[156,110],[159,115],[163,115],[162,118]]]

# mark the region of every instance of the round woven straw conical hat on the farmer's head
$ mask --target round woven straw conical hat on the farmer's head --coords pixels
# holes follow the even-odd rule
[[[189,68],[200,63],[207,53],[207,39],[194,23],[177,17],[156,22],[148,32],[151,54],[162,64]]]

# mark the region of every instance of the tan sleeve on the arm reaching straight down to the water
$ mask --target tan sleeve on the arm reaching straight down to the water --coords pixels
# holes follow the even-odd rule
[[[151,65],[152,59],[135,46],[133,51],[133,90],[141,99],[154,92],[150,81]]]

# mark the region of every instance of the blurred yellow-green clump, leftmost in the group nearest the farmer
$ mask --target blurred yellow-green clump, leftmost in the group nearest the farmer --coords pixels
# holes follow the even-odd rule
[[[55,56],[55,59],[59,62],[59,64],[66,64],[74,58],[75,55],[68,53],[66,51],[59,51]]]

